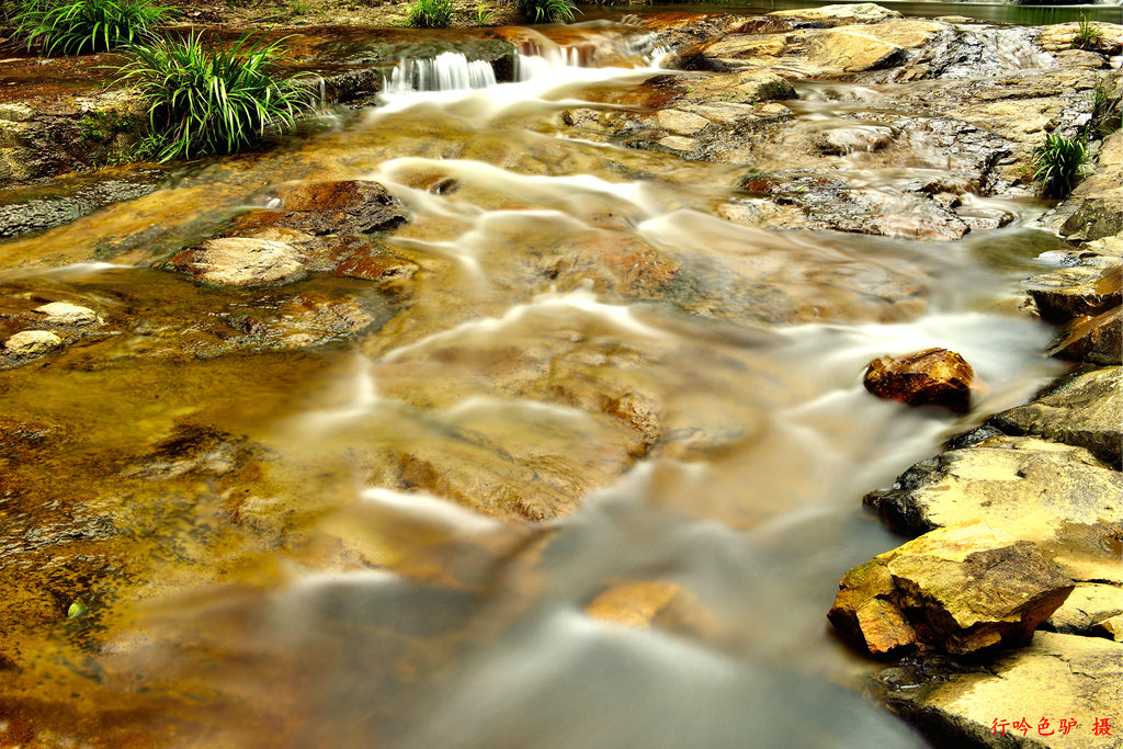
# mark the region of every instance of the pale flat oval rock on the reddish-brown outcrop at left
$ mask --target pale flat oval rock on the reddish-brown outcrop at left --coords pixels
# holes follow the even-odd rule
[[[262,286],[300,278],[301,261],[296,248],[284,241],[220,237],[173,256],[170,264],[207,283]]]

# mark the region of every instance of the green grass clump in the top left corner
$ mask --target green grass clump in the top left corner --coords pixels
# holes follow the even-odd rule
[[[27,0],[13,20],[28,47],[81,55],[148,42],[171,16],[152,0]]]

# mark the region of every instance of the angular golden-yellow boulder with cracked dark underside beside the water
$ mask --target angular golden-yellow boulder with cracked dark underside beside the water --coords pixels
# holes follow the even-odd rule
[[[980,522],[931,531],[847,573],[828,618],[874,656],[1023,642],[1074,583],[1033,544]]]

